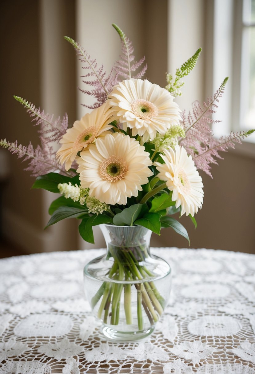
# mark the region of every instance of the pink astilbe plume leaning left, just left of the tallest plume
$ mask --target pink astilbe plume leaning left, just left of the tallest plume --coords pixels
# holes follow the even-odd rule
[[[90,58],[79,43],[68,36],[65,36],[64,38],[76,49],[79,60],[85,64],[82,68],[87,70],[87,74],[82,76],[82,78],[84,78],[82,82],[90,86],[91,89],[85,90],[79,88],[80,91],[86,95],[93,96],[96,99],[95,103],[92,105],[82,105],[88,109],[100,107],[100,105],[104,104],[106,101],[107,95],[112,87],[117,83],[117,74],[113,73],[113,68],[111,69],[110,74],[106,74],[103,65],[98,66],[96,60]]]

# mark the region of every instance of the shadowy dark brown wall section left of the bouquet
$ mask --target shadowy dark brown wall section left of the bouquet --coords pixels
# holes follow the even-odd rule
[[[31,140],[36,147],[37,128],[13,95],[56,116],[63,116],[67,111],[70,123],[74,122],[76,59],[63,39],[65,34],[74,34],[74,3],[30,0],[24,5],[13,0],[2,1],[0,7],[0,137],[9,141],[18,139],[23,145]],[[8,156],[10,175],[3,186],[1,200],[3,234],[27,252],[76,249],[77,239],[73,234],[76,222],[70,222],[70,229],[67,223],[61,223],[43,231],[53,194],[31,190],[34,178],[22,170],[27,163],[22,164],[15,155]]]

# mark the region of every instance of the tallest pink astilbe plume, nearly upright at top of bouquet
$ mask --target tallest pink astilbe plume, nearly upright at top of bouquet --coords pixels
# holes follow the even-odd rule
[[[139,73],[137,73],[136,75],[133,75],[133,73],[138,70],[138,68],[144,63],[145,56],[142,57],[139,61],[134,61],[135,56],[132,54],[134,52],[132,42],[126,37],[123,31],[120,30],[120,28],[116,24],[113,24],[113,27],[119,34],[122,43],[122,55],[120,55],[120,60],[116,61],[113,67],[117,73],[117,80],[123,80],[123,78],[139,79],[143,77],[145,71],[147,70],[147,64],[145,64],[144,67],[142,67],[141,71],[139,71]]]

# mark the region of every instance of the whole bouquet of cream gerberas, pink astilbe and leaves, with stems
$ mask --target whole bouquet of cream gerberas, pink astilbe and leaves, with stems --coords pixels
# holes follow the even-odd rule
[[[201,48],[176,70],[175,76],[167,74],[166,87],[161,88],[142,79],[147,68],[145,58],[135,61],[132,43],[117,25],[113,27],[122,43],[122,55],[110,74],[77,42],[65,37],[85,69],[83,82],[88,89],[82,91],[95,98],[93,105],[85,104],[90,113],[69,127],[67,114],[53,120],[53,116],[14,96],[38,126],[41,144],[34,148],[31,143],[23,146],[4,139],[0,145],[29,160],[26,170],[37,177],[33,188],[61,194],[49,207],[51,218],[46,227],[65,218],[77,218],[81,220],[80,235],[90,243],[94,242],[93,226],[112,227],[108,259],[113,258],[113,265],[108,279],[149,279],[143,293],[142,286],[136,286],[141,330],[142,308],[153,325],[166,303],[145,266],[148,254],[143,230],[160,234],[162,227],[171,227],[189,241],[185,227],[173,216],[188,215],[196,227],[194,215],[203,204],[198,170],[211,176],[210,164],[221,159],[219,151],[233,148],[254,130],[213,138],[211,125],[218,121],[211,119],[211,114],[228,78],[214,96],[202,105],[194,102],[189,112],[181,111],[174,101],[181,95],[182,78],[195,67]],[[123,239],[114,232],[117,226],[139,227],[140,231]],[[111,289],[104,281],[92,297],[92,307],[98,304],[99,318],[111,325],[119,323],[122,288],[118,285]],[[132,324],[129,296],[126,286],[126,323]]]

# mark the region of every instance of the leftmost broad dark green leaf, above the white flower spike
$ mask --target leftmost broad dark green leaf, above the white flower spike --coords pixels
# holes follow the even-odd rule
[[[74,178],[66,177],[58,173],[48,173],[45,175],[40,175],[36,178],[35,183],[32,188],[43,188],[44,190],[59,193],[58,184],[59,183],[68,183],[76,184],[79,182],[77,175]]]

